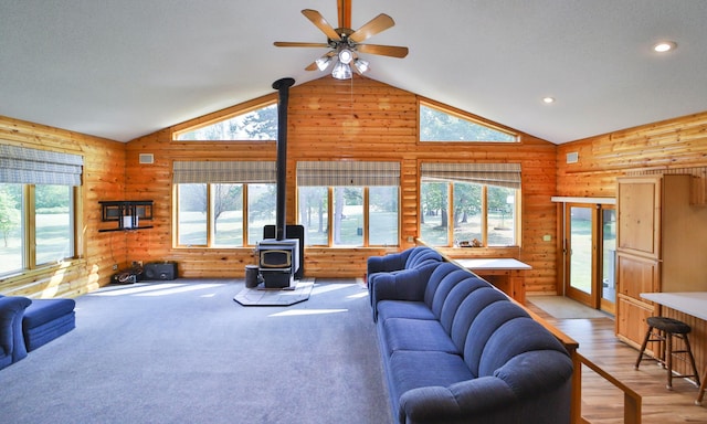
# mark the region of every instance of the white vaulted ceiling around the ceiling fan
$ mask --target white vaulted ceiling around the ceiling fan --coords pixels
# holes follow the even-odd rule
[[[0,0],[0,115],[128,141],[323,77],[273,46],[326,42],[302,9],[338,26],[336,0]],[[707,1],[354,0],[354,29],[381,12],[367,43],[410,54],[368,77],[555,144],[707,110]]]

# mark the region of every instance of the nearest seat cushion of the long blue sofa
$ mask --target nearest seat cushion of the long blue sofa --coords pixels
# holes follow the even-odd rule
[[[446,388],[474,375],[458,354],[440,351],[398,350],[390,357],[389,379],[393,400],[412,389]]]

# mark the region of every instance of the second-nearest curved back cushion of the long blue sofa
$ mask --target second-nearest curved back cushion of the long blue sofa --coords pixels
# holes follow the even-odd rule
[[[464,343],[464,361],[474,377],[490,375],[481,372],[482,361],[497,353],[493,349],[487,349],[488,340],[505,322],[521,317],[529,318],[525,310],[507,299],[494,301],[478,312],[468,328]],[[487,371],[488,367],[485,370]]]

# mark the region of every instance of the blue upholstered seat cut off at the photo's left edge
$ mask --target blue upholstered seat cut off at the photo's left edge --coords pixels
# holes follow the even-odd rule
[[[76,327],[74,299],[0,295],[0,369]]]

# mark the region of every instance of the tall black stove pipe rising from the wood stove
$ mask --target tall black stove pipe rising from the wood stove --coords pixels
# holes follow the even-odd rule
[[[285,225],[286,179],[287,179],[287,103],[293,78],[282,78],[273,83],[278,91],[277,102],[277,203],[275,206],[275,240],[287,239]]]

